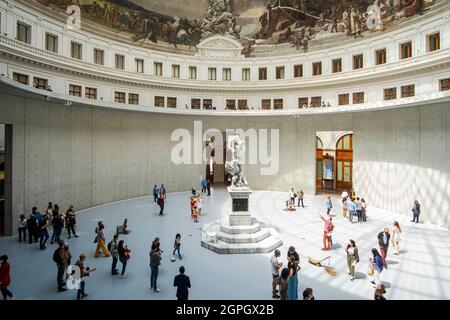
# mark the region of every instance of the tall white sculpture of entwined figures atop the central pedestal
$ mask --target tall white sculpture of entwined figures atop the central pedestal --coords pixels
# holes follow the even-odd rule
[[[227,161],[225,171],[231,175],[231,186],[246,187],[247,178],[244,175],[245,141],[234,132],[227,138]]]

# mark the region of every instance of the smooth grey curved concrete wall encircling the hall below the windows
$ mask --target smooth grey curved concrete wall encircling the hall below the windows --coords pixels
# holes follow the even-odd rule
[[[354,132],[354,186],[369,205],[410,213],[422,203],[424,220],[450,227],[450,108],[448,103],[393,110],[279,117],[192,117],[65,107],[0,95],[0,123],[13,125],[13,216],[148,195],[155,183],[169,192],[198,184],[205,166],[175,165],[172,132],[203,129],[279,129],[280,165],[264,176],[248,165],[254,189],[315,192],[317,131]],[[10,229],[9,231],[15,230]]]

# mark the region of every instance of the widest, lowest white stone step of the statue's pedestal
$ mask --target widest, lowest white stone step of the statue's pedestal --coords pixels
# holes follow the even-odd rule
[[[221,240],[216,243],[202,241],[202,247],[218,254],[268,253],[282,244],[283,242],[278,236],[270,236],[256,243],[227,243]]]

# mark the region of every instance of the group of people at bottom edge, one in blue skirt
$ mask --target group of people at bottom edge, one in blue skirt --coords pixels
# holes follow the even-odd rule
[[[270,258],[272,271],[272,298],[280,300],[298,299],[298,272],[300,271],[300,257],[295,247],[290,246],[287,252],[287,267],[283,268],[280,250],[275,250]],[[278,289],[277,289],[278,288]],[[303,300],[314,300],[313,290],[303,291]]]

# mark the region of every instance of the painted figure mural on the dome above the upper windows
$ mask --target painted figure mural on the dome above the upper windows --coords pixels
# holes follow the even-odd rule
[[[244,54],[258,45],[288,43],[307,51],[313,39],[362,38],[441,0],[34,0],[130,34],[135,42],[193,47],[216,34],[240,39]],[[340,39],[340,40],[339,40]]]

